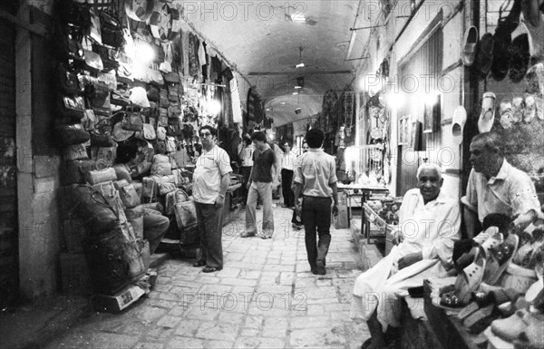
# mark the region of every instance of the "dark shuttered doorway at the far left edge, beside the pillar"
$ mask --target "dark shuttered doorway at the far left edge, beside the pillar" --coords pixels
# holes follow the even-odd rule
[[[7,3],[7,2],[6,2]],[[12,5],[0,10],[12,13]],[[15,301],[19,289],[17,153],[15,144],[15,25],[0,22],[0,306]]]

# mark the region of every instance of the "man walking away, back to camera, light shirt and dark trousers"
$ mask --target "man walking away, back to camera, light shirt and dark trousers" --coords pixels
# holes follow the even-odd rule
[[[310,148],[295,162],[295,209],[302,212],[305,228],[306,253],[312,273],[325,275],[325,257],[331,243],[331,203],[338,213],[335,158],[321,149],[325,133],[311,129],[306,134]],[[302,194],[302,209],[298,198]],[[316,231],[317,230],[317,231]],[[316,232],[319,242],[316,241]]]

